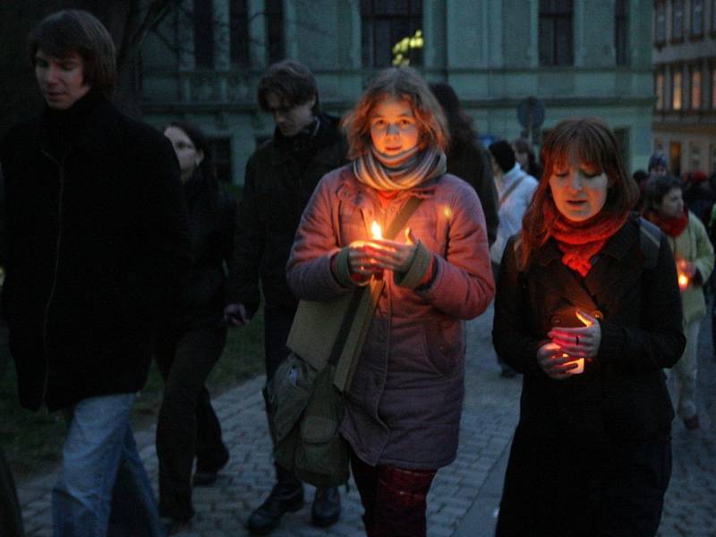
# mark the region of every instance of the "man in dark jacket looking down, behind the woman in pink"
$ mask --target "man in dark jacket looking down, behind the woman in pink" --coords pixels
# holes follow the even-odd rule
[[[301,214],[320,178],[345,164],[346,146],[337,119],[320,113],[316,81],[302,64],[271,65],[259,83],[259,105],[273,115],[273,138],[251,155],[236,227],[234,260],[229,267],[226,319],[247,323],[264,307],[266,377],[271,379],[290,351],[286,338],[298,300],[286,284],[286,262]],[[249,518],[252,532],[268,533],[288,511],[303,505],[303,487],[292,473],[276,466],[277,483]],[[340,515],[335,487],[316,490],[313,524],[334,524]]]

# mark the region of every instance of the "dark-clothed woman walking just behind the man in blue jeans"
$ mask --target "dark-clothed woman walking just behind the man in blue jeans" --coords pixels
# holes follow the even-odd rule
[[[226,343],[224,264],[232,259],[236,206],[217,183],[209,141],[198,127],[173,123],[164,135],[179,160],[193,261],[183,307],[166,315],[155,344],[165,379],[157,423],[159,514],[179,527],[194,513],[192,484],[213,483],[229,460],[205,383]]]

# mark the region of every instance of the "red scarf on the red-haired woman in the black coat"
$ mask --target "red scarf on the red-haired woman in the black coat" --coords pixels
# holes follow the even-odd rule
[[[624,226],[628,216],[628,211],[618,217],[600,212],[584,222],[572,222],[556,215],[550,234],[563,254],[562,262],[585,277],[592,268],[592,258]]]

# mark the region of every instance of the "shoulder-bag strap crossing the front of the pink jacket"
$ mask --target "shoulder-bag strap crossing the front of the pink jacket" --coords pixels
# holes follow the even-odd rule
[[[403,208],[400,209],[400,212],[398,212],[396,217],[390,223],[390,226],[388,226],[388,230],[384,236],[388,240],[392,240],[400,232],[400,230],[403,229],[403,226],[405,226],[408,219],[413,215],[415,209],[418,209],[421,203],[422,198],[417,196],[412,196],[409,200],[407,200]],[[356,288],[353,296],[351,297],[351,303],[348,306],[348,310],[345,312],[345,317],[343,318],[341,327],[338,330],[336,343],[333,345],[333,349],[328,357],[328,363],[336,365],[334,384],[336,384],[337,388],[341,391],[344,391],[351,385],[353,373],[358,363],[357,358],[360,354],[356,352],[353,356],[347,356],[343,353],[345,341],[349,337],[352,328],[356,325],[355,321],[360,321],[355,329],[358,330],[357,337],[360,343],[358,348],[362,348],[362,343],[365,338],[365,334],[367,333],[367,325],[369,324],[369,320],[373,317],[375,308],[378,305],[379,296],[385,285],[385,281],[382,279],[371,281],[371,285],[369,286]],[[366,307],[364,308],[363,318],[356,320],[355,314],[359,310],[359,306],[362,301],[369,301],[369,303],[366,304]]]

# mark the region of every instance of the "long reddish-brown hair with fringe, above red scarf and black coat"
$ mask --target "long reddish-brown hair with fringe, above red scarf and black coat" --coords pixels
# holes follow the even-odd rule
[[[605,217],[623,217],[639,197],[639,189],[626,175],[617,138],[606,124],[595,117],[567,119],[557,124],[542,144],[544,173],[522,220],[518,258],[521,269],[528,267],[534,251],[550,238],[555,219],[550,215],[558,215],[552,200],[550,177],[555,167],[563,165],[570,156],[607,175],[609,192],[601,209]],[[550,210],[545,210],[548,204],[551,204]]]

